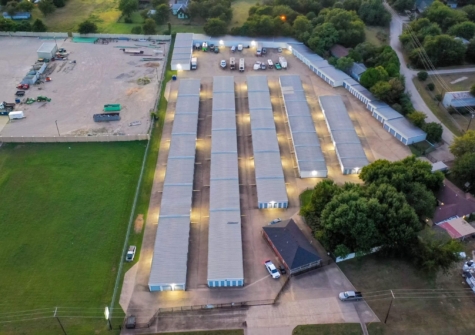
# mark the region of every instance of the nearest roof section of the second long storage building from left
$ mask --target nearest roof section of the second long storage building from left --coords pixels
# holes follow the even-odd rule
[[[208,280],[244,279],[241,212],[210,212]]]

